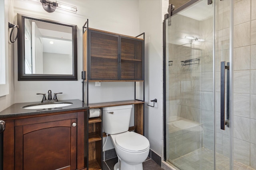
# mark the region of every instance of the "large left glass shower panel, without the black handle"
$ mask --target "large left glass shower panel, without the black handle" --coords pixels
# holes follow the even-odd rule
[[[214,4],[207,2],[166,20],[166,162],[182,170],[215,168]]]

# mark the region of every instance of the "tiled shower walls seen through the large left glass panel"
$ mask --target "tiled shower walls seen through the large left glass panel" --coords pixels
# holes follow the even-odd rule
[[[169,29],[169,122],[186,120],[197,131],[174,131],[168,134],[169,158],[174,159],[200,147],[213,149],[213,73],[212,73],[212,27],[213,20],[197,21],[182,15],[171,19]],[[180,23],[180,24],[179,24]],[[179,25],[177,27],[176,25]],[[199,37],[204,42],[179,39],[186,35]],[[192,49],[191,49],[192,48]],[[200,59],[200,64],[182,66],[180,61]],[[177,118],[178,117],[178,118]],[[194,124],[193,124],[194,123]],[[200,129],[200,130],[198,130]],[[185,132],[185,133],[184,133]]]

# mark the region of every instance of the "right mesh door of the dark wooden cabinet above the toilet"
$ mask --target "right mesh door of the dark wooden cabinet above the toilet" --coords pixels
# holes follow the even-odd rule
[[[143,80],[143,41],[126,37],[120,39],[120,80]]]

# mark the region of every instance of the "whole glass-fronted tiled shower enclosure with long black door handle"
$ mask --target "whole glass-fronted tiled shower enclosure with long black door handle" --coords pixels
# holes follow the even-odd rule
[[[164,20],[164,156],[177,169],[256,169],[254,7],[191,0]]]

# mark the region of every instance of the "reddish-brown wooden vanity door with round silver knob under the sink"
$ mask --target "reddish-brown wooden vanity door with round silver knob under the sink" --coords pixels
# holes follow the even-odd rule
[[[77,119],[38,120],[15,127],[15,170],[76,170]]]

